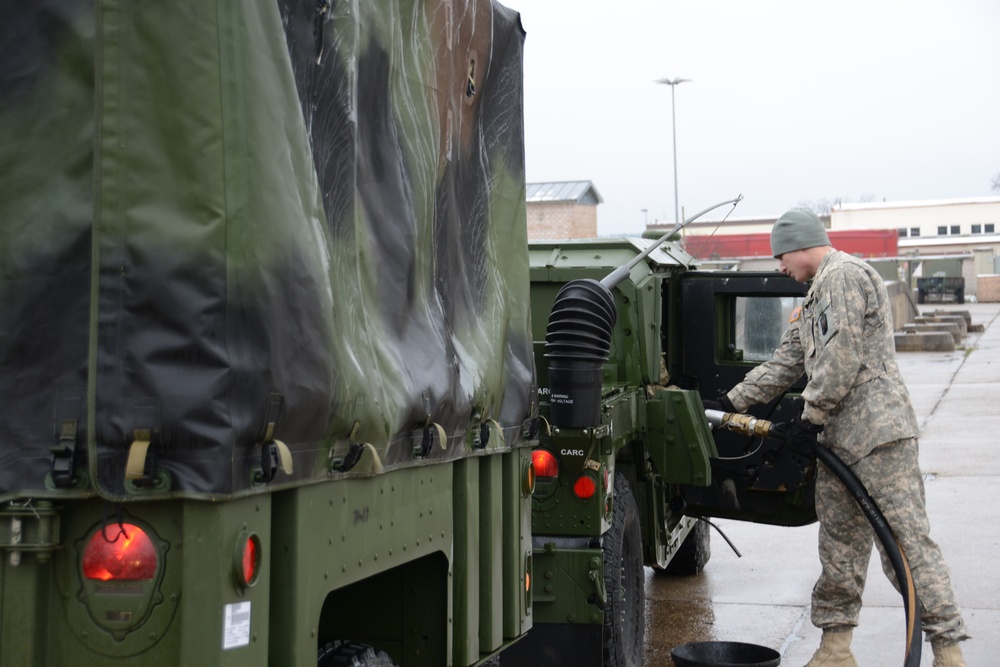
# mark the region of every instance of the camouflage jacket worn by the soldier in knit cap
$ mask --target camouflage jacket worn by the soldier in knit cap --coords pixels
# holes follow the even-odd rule
[[[864,261],[828,253],[774,357],[729,392],[737,410],[765,403],[806,374],[803,419],[852,464],[875,447],[916,437],[910,395],[896,365],[892,311],[882,278]]]

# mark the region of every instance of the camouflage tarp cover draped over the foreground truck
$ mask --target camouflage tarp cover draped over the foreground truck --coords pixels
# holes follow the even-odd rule
[[[515,12],[58,0],[0,26],[0,498],[253,491],[271,422],[272,488],[357,443],[387,470],[490,420],[522,444]],[[429,423],[447,447],[415,458]]]

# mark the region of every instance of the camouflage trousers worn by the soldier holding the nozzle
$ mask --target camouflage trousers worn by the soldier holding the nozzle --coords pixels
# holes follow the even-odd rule
[[[851,469],[882,510],[903,548],[920,598],[927,640],[952,644],[967,639],[965,622],[955,604],[948,566],[941,549],[930,538],[916,438],[876,447]],[[816,480],[816,511],[823,571],[813,588],[812,622],[820,628],[854,627],[861,613],[861,595],[873,541],[882,557],[882,570],[896,590],[899,584],[881,543],[874,539],[871,524],[858,509],[854,497],[822,464]]]

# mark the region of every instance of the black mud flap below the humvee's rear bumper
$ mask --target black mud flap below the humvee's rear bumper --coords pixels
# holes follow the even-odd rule
[[[500,654],[501,667],[601,667],[603,625],[538,623]]]

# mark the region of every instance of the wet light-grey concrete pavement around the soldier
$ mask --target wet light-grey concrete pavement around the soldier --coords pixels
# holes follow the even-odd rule
[[[900,352],[921,424],[931,536],[944,552],[972,639],[963,643],[972,666],[1000,664],[1000,304],[921,306],[967,310],[971,333],[955,352]],[[694,577],[646,569],[646,665],[673,664],[670,651],[689,641],[742,641],[769,646],[782,667],[801,667],[819,645],[809,621],[819,574],[816,524],[780,528],[713,521],[742,552],[737,558],[713,531],[712,557]],[[902,600],[873,552],[861,622],[852,650],[861,667],[902,665]],[[933,662],[930,645],[922,667]]]

